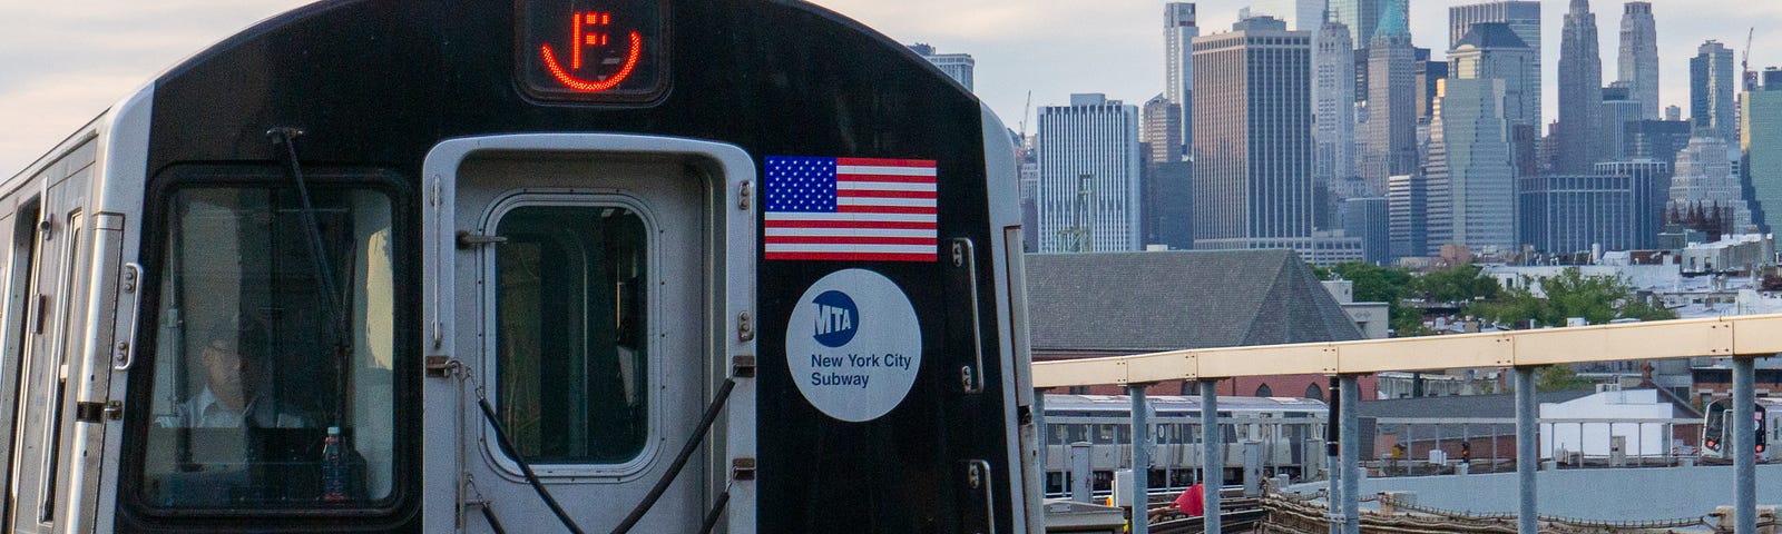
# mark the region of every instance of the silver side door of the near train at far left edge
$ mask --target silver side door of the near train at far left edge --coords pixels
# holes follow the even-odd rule
[[[71,388],[78,354],[84,354],[86,267],[91,258],[86,224],[86,187],[91,158],[69,157],[45,180],[43,210],[34,231],[32,287],[27,292],[25,335],[21,342],[20,402],[14,411],[14,447],[11,457],[11,493],[7,495],[11,532],[45,532],[55,527],[59,502],[66,490],[66,436],[71,433]],[[84,162],[84,164],[82,164]],[[75,166],[80,169],[69,169]],[[57,180],[66,178],[66,180]]]

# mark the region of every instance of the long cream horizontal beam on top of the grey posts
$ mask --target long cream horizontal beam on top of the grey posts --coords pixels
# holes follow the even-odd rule
[[[1035,388],[1782,352],[1782,315],[1035,361]]]

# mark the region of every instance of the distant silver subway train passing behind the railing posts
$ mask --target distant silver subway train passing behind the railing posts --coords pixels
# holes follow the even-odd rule
[[[1201,399],[1149,395],[1153,409],[1151,488],[1187,486],[1199,479]],[[1105,486],[1114,470],[1132,465],[1132,397],[1126,395],[1046,395],[1046,488],[1062,491],[1071,470],[1071,443],[1091,443],[1091,470]],[[1324,424],[1329,408],[1313,399],[1292,397],[1219,397],[1224,465],[1237,473],[1244,466],[1244,443],[1262,447],[1262,466],[1269,475],[1299,479],[1322,466]]]

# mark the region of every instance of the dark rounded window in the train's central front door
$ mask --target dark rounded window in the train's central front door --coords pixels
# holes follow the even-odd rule
[[[624,465],[650,440],[649,233],[625,206],[522,205],[495,247],[497,415],[531,463]]]

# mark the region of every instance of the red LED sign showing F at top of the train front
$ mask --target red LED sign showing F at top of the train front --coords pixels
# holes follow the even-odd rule
[[[540,100],[645,101],[666,85],[663,0],[519,0],[520,87]]]

